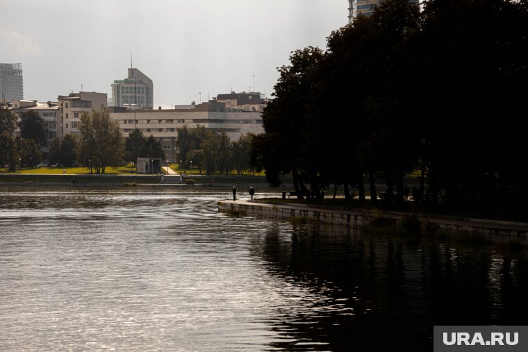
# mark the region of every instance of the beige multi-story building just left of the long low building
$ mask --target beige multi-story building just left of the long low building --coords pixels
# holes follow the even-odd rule
[[[92,110],[102,110],[106,108],[106,93],[79,92],[67,96],[58,96],[58,106],[60,108],[60,130],[59,137],[64,137],[68,133],[80,135],[77,129],[80,118],[84,112]]]

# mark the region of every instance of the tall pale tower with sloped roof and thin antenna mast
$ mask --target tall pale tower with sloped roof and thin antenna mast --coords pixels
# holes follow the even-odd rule
[[[129,76],[112,83],[112,106],[154,108],[154,85],[139,69],[129,68]]]

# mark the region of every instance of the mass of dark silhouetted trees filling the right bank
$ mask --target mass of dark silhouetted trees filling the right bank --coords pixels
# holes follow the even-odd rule
[[[384,1],[280,67],[251,162],[279,185],[319,197],[381,178],[404,200],[520,203],[528,196],[525,118],[528,1]],[[392,195],[394,197],[392,198]]]

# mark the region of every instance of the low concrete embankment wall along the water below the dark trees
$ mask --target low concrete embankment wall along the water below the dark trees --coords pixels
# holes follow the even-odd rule
[[[482,242],[507,242],[528,245],[528,223],[449,217],[441,215],[413,214],[386,210],[322,208],[297,204],[271,204],[255,201],[220,201],[218,209],[224,212],[240,212],[248,215],[277,217],[281,219],[306,218],[325,224],[359,228],[376,219],[401,221],[410,217],[418,221],[422,230],[429,233],[452,233],[472,237]]]

